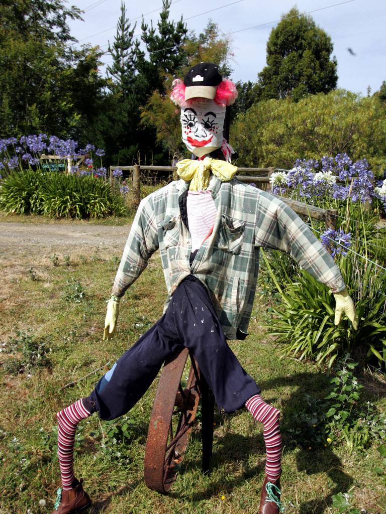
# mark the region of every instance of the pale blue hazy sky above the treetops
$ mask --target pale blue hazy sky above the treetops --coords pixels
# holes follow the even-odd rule
[[[141,20],[156,25],[162,0],[126,0],[127,16],[134,34],[141,34]],[[84,10],[83,22],[70,21],[72,35],[79,44],[99,45],[107,50],[114,41],[120,15],[120,0],[70,0]],[[229,34],[233,53],[231,78],[256,82],[258,73],[266,65],[266,45],[273,27],[280,17],[294,5],[302,13],[309,13],[324,29],[334,44],[333,56],[338,61],[338,87],[363,96],[370,86],[374,93],[386,80],[386,2],[385,0],[174,0],[169,19],[186,20],[188,30],[198,35],[212,19],[220,31]],[[211,12],[208,12],[211,11]],[[352,50],[353,55],[348,49]],[[105,64],[112,62],[104,55]],[[102,67],[102,71],[106,66]]]

